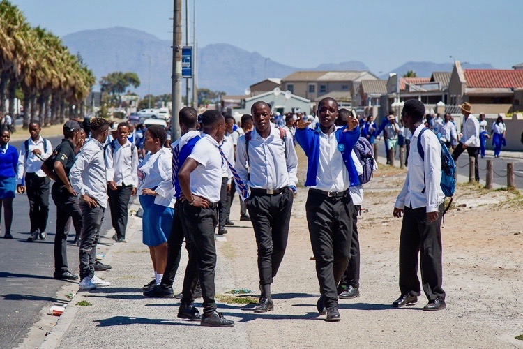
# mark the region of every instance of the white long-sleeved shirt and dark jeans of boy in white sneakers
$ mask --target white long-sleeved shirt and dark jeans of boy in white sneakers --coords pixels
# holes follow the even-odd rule
[[[107,181],[102,143],[94,138],[85,142],[70,170],[69,178],[71,186],[80,197],[89,195],[97,203],[96,207],[89,207],[84,200],[79,200],[83,227],[79,250],[80,279],[92,279],[96,263],[96,245],[100,239],[103,215],[107,208]]]

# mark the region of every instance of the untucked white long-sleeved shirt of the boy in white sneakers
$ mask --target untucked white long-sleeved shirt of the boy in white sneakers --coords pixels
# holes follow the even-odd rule
[[[107,181],[103,145],[89,138],[69,172],[69,181],[79,195],[87,194],[107,208]]]

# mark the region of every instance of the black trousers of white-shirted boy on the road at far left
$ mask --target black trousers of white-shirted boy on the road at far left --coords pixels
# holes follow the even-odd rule
[[[31,233],[45,232],[49,217],[49,177],[38,177],[38,174],[26,173],[25,186],[29,199],[29,220]]]

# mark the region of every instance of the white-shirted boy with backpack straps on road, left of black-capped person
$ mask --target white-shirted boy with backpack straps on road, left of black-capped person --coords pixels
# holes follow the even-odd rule
[[[38,236],[47,236],[47,218],[49,216],[49,184],[51,179],[41,170],[43,161],[53,152],[51,142],[40,136],[40,123],[31,121],[31,137],[22,143],[17,168],[17,192],[27,192],[29,199],[29,220],[31,236],[27,241],[36,241]]]

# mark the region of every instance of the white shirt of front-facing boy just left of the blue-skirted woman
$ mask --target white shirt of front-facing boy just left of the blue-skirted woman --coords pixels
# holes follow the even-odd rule
[[[118,140],[105,147],[105,165],[107,166],[107,182],[114,181],[116,186],[138,187],[138,149],[132,149],[132,142],[127,140],[123,146]]]

